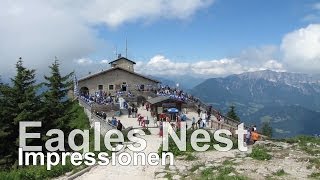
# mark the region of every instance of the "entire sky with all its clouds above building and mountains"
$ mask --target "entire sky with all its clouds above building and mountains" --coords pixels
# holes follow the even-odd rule
[[[115,48],[151,75],[320,70],[320,1],[1,0],[0,75],[22,56],[39,74],[108,68]]]

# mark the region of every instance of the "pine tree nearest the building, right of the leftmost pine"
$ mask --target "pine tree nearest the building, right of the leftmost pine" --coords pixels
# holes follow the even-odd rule
[[[43,131],[45,132],[50,129],[61,129],[64,132],[69,131],[71,114],[68,111],[70,111],[71,102],[67,98],[67,94],[72,87],[72,80],[70,79],[73,73],[61,76],[59,66],[59,62],[56,59],[49,66],[51,75],[44,76],[46,80],[44,85],[48,88],[44,93],[44,106],[42,109],[44,118]],[[43,136],[43,140],[47,138]]]

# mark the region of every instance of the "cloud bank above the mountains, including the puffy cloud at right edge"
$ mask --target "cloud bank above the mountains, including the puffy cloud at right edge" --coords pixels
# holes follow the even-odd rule
[[[158,75],[193,74],[223,76],[248,71],[273,70],[302,73],[320,72],[320,24],[310,24],[285,34],[279,46],[263,46],[243,50],[237,57],[217,60],[173,62],[156,55],[149,62],[139,62],[142,72]]]

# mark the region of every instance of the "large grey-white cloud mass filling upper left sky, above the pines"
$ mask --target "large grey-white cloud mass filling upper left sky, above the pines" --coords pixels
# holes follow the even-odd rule
[[[26,66],[37,69],[38,74],[47,71],[55,56],[65,71],[81,68],[75,66],[74,59],[90,57],[99,49],[112,54],[111,48],[106,52],[107,43],[99,39],[96,25],[114,28],[135,21],[187,19],[212,3],[213,0],[79,0],[76,3],[71,0],[3,0],[0,6],[0,72],[13,75],[14,64],[20,56]]]

